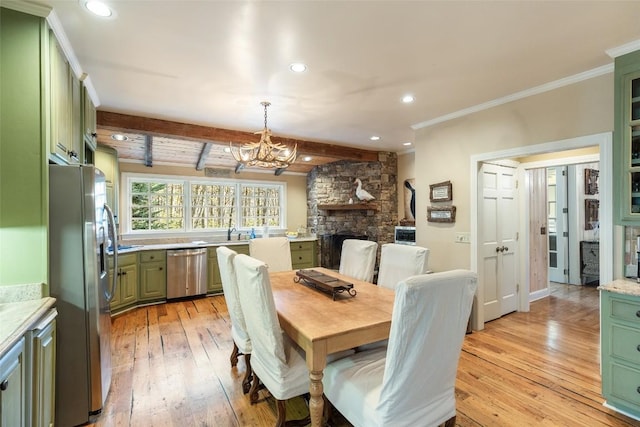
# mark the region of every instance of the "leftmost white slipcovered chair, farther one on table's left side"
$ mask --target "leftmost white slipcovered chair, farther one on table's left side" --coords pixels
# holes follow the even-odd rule
[[[249,392],[251,387],[251,339],[247,332],[247,326],[240,306],[240,295],[238,293],[238,282],[236,280],[236,271],[233,266],[233,259],[237,255],[235,251],[219,246],[216,249],[218,256],[218,267],[220,268],[220,279],[222,279],[222,290],[224,292],[224,300],[229,310],[229,319],[231,320],[231,338],[233,339],[233,350],[231,352],[231,367],[238,364],[238,356],[244,355],[246,370],[242,380],[242,391]]]

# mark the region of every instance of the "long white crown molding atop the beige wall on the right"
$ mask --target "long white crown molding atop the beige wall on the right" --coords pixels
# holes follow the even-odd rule
[[[544,92],[549,92],[551,90],[555,90],[564,86],[569,86],[584,80],[589,80],[594,77],[602,76],[605,74],[613,73],[613,63],[603,65],[598,68],[594,68],[592,70],[588,70],[582,73],[574,74],[573,76],[565,77],[559,80],[555,80],[553,82],[545,83],[540,86],[532,87],[530,89],[526,89],[520,92],[516,92],[511,95],[507,95],[502,98],[494,99],[489,102],[485,102],[483,104],[474,105],[473,107],[465,108],[463,110],[458,110],[450,114],[445,114],[444,116],[436,117],[435,119],[426,120],[424,122],[416,123],[411,125],[411,129],[419,130],[424,129],[429,126],[433,126],[438,123],[447,122],[449,120],[457,119],[460,117],[468,116],[469,114],[477,113],[480,111],[488,110],[490,108],[497,107],[499,105],[507,104],[509,102],[517,101],[519,99],[528,98],[530,96],[539,95]]]

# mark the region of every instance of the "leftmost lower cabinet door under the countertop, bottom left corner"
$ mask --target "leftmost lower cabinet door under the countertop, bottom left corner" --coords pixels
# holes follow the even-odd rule
[[[0,427],[27,425],[24,337],[0,358]]]

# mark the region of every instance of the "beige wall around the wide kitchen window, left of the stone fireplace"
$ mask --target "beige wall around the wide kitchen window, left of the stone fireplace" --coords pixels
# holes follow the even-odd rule
[[[185,168],[178,166],[154,165],[148,168],[142,164],[120,162],[120,173],[135,172],[148,173],[156,175],[174,175],[174,176],[197,176],[205,177],[204,171],[197,171],[193,168]],[[287,183],[287,228],[295,231],[301,225],[307,224],[307,176],[291,175],[286,172],[280,176],[275,176],[273,172],[259,173],[243,171],[236,174],[233,170],[229,170],[228,175],[219,176],[218,178],[245,179],[255,181],[274,181]],[[120,188],[124,189],[124,183],[120,182]],[[120,192],[120,197],[124,197],[125,192]],[[120,205],[124,206],[123,201]]]

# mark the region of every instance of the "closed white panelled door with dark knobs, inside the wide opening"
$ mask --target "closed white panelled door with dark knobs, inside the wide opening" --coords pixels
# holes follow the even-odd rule
[[[480,171],[480,229],[484,285],[484,321],[518,308],[516,170],[483,164]]]

